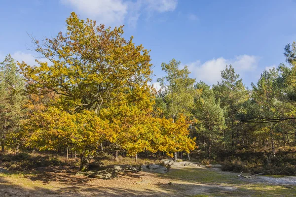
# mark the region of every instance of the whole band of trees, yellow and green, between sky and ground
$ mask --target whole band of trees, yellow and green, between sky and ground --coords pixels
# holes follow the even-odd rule
[[[150,51],[124,38],[123,26],[74,12],[66,26],[52,38],[32,36],[35,65],[9,54],[0,63],[0,166],[5,154],[35,152],[75,158],[80,171],[108,156],[296,175],[296,42],[283,46],[286,63],[251,87],[231,65],[206,84],[172,59],[160,65],[157,90]]]

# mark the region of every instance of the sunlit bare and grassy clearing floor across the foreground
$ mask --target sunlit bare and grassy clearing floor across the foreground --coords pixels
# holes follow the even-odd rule
[[[171,168],[166,174],[125,173],[101,180],[75,176],[76,169],[45,167],[0,173],[0,197],[252,197],[296,196],[296,177],[256,176],[205,167]]]

